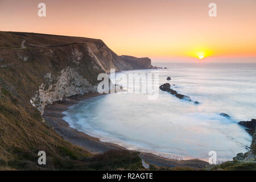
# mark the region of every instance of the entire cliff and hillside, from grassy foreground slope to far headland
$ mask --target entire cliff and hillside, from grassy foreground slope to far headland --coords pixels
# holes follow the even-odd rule
[[[151,67],[150,59],[125,60],[98,39],[0,31],[0,169],[42,169],[36,166],[40,150],[48,156],[44,168],[84,168],[80,159],[90,154],[44,121],[44,107],[96,92],[98,74],[112,68]],[[127,155],[139,161],[137,155]]]

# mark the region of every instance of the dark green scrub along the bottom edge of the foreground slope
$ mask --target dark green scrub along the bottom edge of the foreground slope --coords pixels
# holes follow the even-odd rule
[[[65,147],[60,147],[61,150]],[[68,148],[64,149],[67,155],[59,156],[50,151],[46,151],[47,164],[38,165],[38,150],[24,150],[14,148],[12,151],[14,158],[5,162],[0,160],[1,166],[8,166],[20,170],[138,170],[143,169],[138,155],[129,151],[109,151],[105,154],[95,156],[76,156],[77,159],[69,157],[75,155],[70,153]],[[67,158],[68,156],[68,158]],[[82,158],[81,158],[82,157]],[[78,159],[81,158],[81,159]]]

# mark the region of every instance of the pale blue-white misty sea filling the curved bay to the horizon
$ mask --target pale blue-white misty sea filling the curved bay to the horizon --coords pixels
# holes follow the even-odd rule
[[[238,122],[256,118],[256,64],[154,65],[166,69],[115,73],[114,78],[121,75],[123,79],[113,82],[127,92],[80,101],[64,111],[63,119],[71,127],[102,142],[170,159],[208,161],[214,152],[217,161],[224,162],[232,160],[238,152],[249,150],[252,137]],[[130,75],[135,78],[130,79]],[[150,76],[158,79],[152,79],[154,82],[149,79],[145,85],[141,78],[145,75],[146,80]],[[129,80],[141,81],[131,85]],[[160,90],[159,86],[167,82],[171,89],[189,96],[192,101],[180,100]],[[148,97],[152,92],[142,91],[148,85],[155,89],[155,97]]]

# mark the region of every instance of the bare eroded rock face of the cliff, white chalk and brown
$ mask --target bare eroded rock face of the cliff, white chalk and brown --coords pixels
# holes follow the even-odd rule
[[[59,51],[65,51],[65,54],[60,56]],[[52,63],[56,64],[55,60],[57,63],[62,62],[61,64],[64,66],[64,69],[58,71],[60,73],[59,76],[56,73],[46,73],[44,81],[40,83],[34,97],[30,100],[31,104],[41,114],[43,114],[44,107],[47,104],[63,100],[64,97],[84,94],[86,92],[96,92],[98,74],[108,73],[113,68],[115,71],[137,69],[137,64],[141,64],[139,63],[141,59],[135,57],[134,59],[138,61],[136,65],[126,63],[103,42],[98,40],[89,43],[68,44],[57,49],[57,51],[54,47],[42,49],[40,53],[43,53],[50,60],[54,60],[49,64],[49,67],[52,67]],[[68,62],[64,64],[63,61],[60,61],[61,59],[67,59]],[[144,65],[146,66],[145,68],[150,67],[151,60],[148,59],[145,63],[142,61],[140,68],[143,68]],[[56,66],[53,65],[53,67]],[[92,85],[92,80],[94,85]]]

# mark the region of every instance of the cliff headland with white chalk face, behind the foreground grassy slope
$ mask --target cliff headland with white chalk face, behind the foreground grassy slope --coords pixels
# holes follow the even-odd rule
[[[24,32],[0,38],[1,73],[14,78],[1,77],[1,85],[14,94],[22,86],[20,94],[41,114],[54,101],[96,92],[99,73],[153,68],[150,59],[118,56],[98,39]]]

